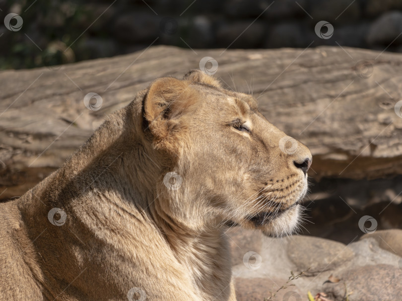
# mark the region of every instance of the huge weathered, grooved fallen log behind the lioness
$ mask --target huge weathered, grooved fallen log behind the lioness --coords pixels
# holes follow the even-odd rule
[[[107,114],[127,105],[150,81],[182,77],[200,68],[204,56],[216,59],[215,76],[225,86],[253,91],[268,120],[310,148],[311,176],[359,179],[402,172],[402,118],[394,110],[402,92],[401,54],[339,47],[151,47],[0,72],[0,198],[21,195],[59,167]],[[99,110],[85,107],[88,93],[101,96]]]

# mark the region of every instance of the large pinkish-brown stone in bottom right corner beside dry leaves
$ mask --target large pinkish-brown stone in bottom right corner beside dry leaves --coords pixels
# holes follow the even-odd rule
[[[340,279],[338,283],[327,282],[323,286],[330,300],[345,300],[345,286],[347,292],[352,293],[349,300],[400,300],[402,269],[398,267],[387,264],[366,265],[353,267],[334,276]]]

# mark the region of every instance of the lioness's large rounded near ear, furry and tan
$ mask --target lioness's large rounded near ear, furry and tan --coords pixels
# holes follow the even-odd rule
[[[199,100],[188,82],[173,77],[154,81],[143,100],[143,130],[150,131],[155,145],[172,138],[183,125],[181,117]]]

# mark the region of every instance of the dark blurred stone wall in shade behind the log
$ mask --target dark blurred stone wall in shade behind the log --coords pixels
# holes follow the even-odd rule
[[[151,44],[402,52],[401,0],[0,0],[0,9],[1,19],[15,13],[23,20],[20,28],[11,28],[15,18],[0,26],[0,42],[9,45],[0,48],[2,69],[114,56]]]

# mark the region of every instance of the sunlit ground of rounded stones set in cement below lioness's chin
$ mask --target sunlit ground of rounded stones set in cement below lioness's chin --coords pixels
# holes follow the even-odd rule
[[[401,298],[402,230],[376,231],[347,245],[309,236],[273,239],[241,228],[227,234],[239,301],[307,301],[308,292],[331,301]],[[289,281],[292,273],[296,279]]]

